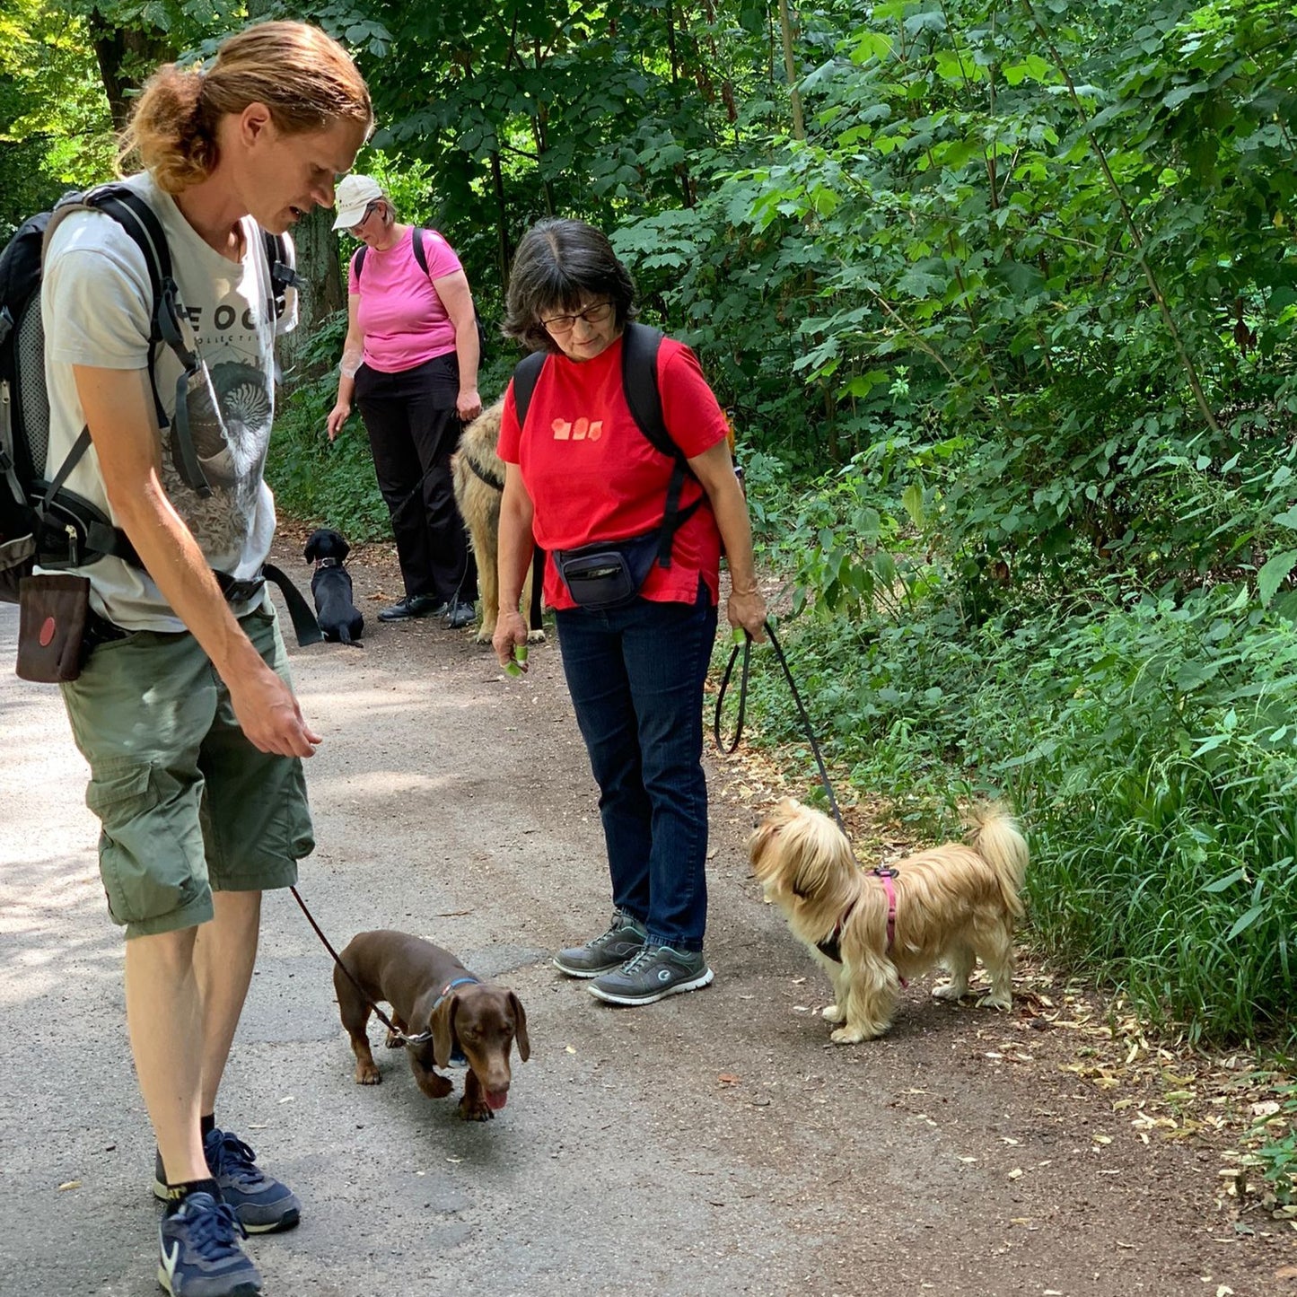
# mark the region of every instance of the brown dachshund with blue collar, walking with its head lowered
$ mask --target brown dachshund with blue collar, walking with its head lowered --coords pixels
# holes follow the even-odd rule
[[[351,1038],[358,1086],[376,1086],[383,1078],[370,1052],[366,1023],[374,1003],[392,1005],[393,1026],[403,1035],[431,1039],[406,1047],[419,1088],[429,1099],[445,1099],[454,1089],[447,1077],[432,1069],[467,1062],[464,1096],[459,1115],[466,1122],[485,1122],[508,1100],[510,1047],[527,1062],[532,1047],[527,1039],[527,1014],[512,991],[473,977],[450,953],[409,933],[361,933],[342,951],[351,978],[333,969],[333,988],[342,1026]],[[361,992],[364,992],[363,995]],[[401,1039],[388,1032],[388,1048],[399,1049]]]

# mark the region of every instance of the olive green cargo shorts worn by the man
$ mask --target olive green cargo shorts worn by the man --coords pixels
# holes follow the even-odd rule
[[[291,684],[274,611],[240,625]],[[112,639],[61,687],[89,763],[109,913],[127,938],[206,922],[213,890],[297,882],[297,861],[315,846],[302,763],[248,742],[193,636]]]

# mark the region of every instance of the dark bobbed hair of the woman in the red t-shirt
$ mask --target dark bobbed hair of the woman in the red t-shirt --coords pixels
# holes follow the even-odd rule
[[[584,220],[542,220],[518,245],[503,332],[533,351],[558,351],[542,316],[578,311],[591,297],[612,302],[619,331],[636,316],[634,280],[603,231]]]

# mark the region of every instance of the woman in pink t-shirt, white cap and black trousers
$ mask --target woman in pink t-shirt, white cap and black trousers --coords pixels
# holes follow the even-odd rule
[[[348,329],[332,441],[361,409],[379,490],[392,518],[405,595],[380,621],[445,615],[473,620],[477,573],[455,506],[450,457],[481,414],[477,314],[459,258],[434,230],[397,220],[367,175],[337,187],[335,230],[362,246],[351,258]]]

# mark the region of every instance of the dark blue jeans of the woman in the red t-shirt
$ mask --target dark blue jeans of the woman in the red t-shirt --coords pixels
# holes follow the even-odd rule
[[[652,942],[700,951],[707,927],[703,681],[716,608],[636,599],[555,615],[563,672],[599,785],[612,903]]]

